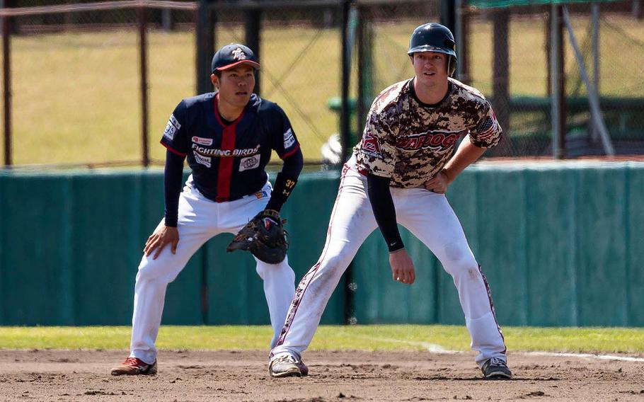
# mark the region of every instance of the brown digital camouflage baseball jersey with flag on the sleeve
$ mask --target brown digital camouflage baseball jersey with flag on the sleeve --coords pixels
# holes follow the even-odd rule
[[[409,79],[376,98],[353,153],[358,171],[391,178],[391,187],[413,188],[443,168],[461,137],[469,134],[472,144],[490,148],[501,131],[492,106],[476,88],[450,78],[445,98],[425,105]]]

